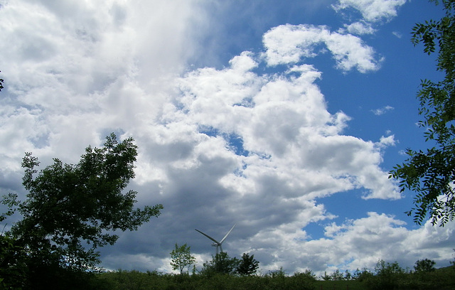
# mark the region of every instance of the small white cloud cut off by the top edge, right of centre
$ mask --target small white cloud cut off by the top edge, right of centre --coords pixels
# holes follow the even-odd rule
[[[336,11],[353,8],[360,11],[365,21],[377,22],[397,16],[397,9],[405,3],[406,0],[338,0],[333,8]]]

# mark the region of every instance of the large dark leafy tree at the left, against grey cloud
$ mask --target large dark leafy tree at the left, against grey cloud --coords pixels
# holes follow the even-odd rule
[[[113,245],[118,239],[113,231],[137,230],[160,214],[162,205],[134,209],[137,192],[122,193],[134,178],[137,145],[133,141],[119,142],[111,134],[102,148],[87,147],[79,163],[53,159],[39,173],[38,159],[26,153],[22,162],[26,200],[9,194],[2,203],[10,208],[6,215],[14,210],[22,215],[9,235],[28,254],[32,275],[46,268],[96,269],[100,260],[95,249]]]

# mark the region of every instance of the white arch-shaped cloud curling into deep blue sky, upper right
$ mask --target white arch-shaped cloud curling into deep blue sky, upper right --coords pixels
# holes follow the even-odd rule
[[[357,36],[331,32],[325,26],[282,25],[264,34],[265,56],[268,65],[299,63],[301,58],[313,58],[325,44],[336,60],[336,67],[360,73],[378,70],[382,59],[375,58],[375,51]]]

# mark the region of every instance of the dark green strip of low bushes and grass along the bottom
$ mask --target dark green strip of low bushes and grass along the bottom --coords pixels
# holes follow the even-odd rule
[[[429,264],[426,264],[429,262]],[[403,269],[397,262],[380,260],[373,271],[362,269],[346,276],[339,270],[332,274],[316,276],[310,270],[287,274],[283,269],[267,274],[225,274],[205,272],[194,274],[164,274],[117,270],[97,275],[97,285],[102,289],[239,289],[239,290],[306,290],[306,289],[455,289],[455,267],[434,269],[428,259],[417,261],[413,270]],[[427,266],[430,267],[427,267]],[[420,266],[424,266],[423,268]]]

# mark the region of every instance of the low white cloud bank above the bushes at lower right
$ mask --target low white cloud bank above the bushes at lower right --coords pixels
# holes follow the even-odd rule
[[[324,228],[325,237],[317,240],[293,229],[282,226],[262,230],[243,243],[257,246],[250,252],[259,261],[273,261],[263,268],[265,272],[283,267],[288,272],[311,269],[321,275],[335,269],[373,269],[379,259],[412,266],[417,259],[428,257],[441,267],[452,252],[455,224],[432,227],[427,223],[417,230],[407,230],[402,220],[370,212],[365,218],[342,224],[331,222]],[[242,245],[235,242],[235,247]]]

